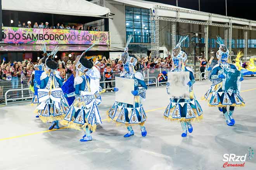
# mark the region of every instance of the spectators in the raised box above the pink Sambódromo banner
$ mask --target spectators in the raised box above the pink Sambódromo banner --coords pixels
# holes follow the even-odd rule
[[[64,24],[60,24],[60,23],[57,23],[55,26],[54,25],[49,25],[49,22],[35,22],[34,25],[32,26],[31,25],[31,22],[28,21],[28,24],[26,25],[25,22],[20,22],[19,21],[19,24],[18,24],[18,27],[21,27],[21,28],[43,28],[43,29],[70,29],[70,30],[83,30],[83,27],[76,27],[74,25],[64,25]],[[93,26],[88,26],[86,28],[85,31],[99,31],[97,27],[93,28]]]

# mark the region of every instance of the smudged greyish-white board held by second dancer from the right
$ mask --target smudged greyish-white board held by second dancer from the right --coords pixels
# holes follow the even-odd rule
[[[189,99],[189,71],[168,72],[168,96],[172,99]]]

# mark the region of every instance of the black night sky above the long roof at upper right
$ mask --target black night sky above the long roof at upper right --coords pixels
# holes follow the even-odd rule
[[[176,6],[176,0],[146,0]],[[178,6],[199,10],[198,0],[178,0]],[[225,0],[200,0],[202,12],[226,15]],[[256,20],[256,0],[227,0],[228,16]]]

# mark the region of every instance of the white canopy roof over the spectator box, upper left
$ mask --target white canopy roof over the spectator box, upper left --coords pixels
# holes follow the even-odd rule
[[[110,13],[86,0],[3,0],[3,10],[100,17]]]

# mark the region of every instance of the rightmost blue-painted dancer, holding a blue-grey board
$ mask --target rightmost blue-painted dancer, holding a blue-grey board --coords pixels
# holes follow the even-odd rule
[[[223,40],[221,37],[217,37],[216,41],[220,48],[217,51],[217,55],[219,58],[218,65],[215,65],[213,67],[213,70],[211,72],[211,80],[214,81],[214,87],[213,87],[213,93],[211,94],[211,97],[209,99],[208,105],[209,106],[215,106],[215,107],[222,107],[222,112],[224,114],[226,123],[228,126],[233,126],[235,124],[235,120],[233,118],[233,113],[235,106],[243,106],[244,100],[238,93],[233,92],[227,92],[225,90],[222,90],[222,80],[226,78],[226,76],[223,74],[224,68],[231,68],[234,70],[237,70],[236,66],[233,64],[227,63],[228,57],[229,57],[229,50],[224,45]],[[239,78],[239,81],[244,80],[243,76]],[[232,86],[232,85],[231,85]],[[227,106],[229,107],[229,113],[227,111]]]

